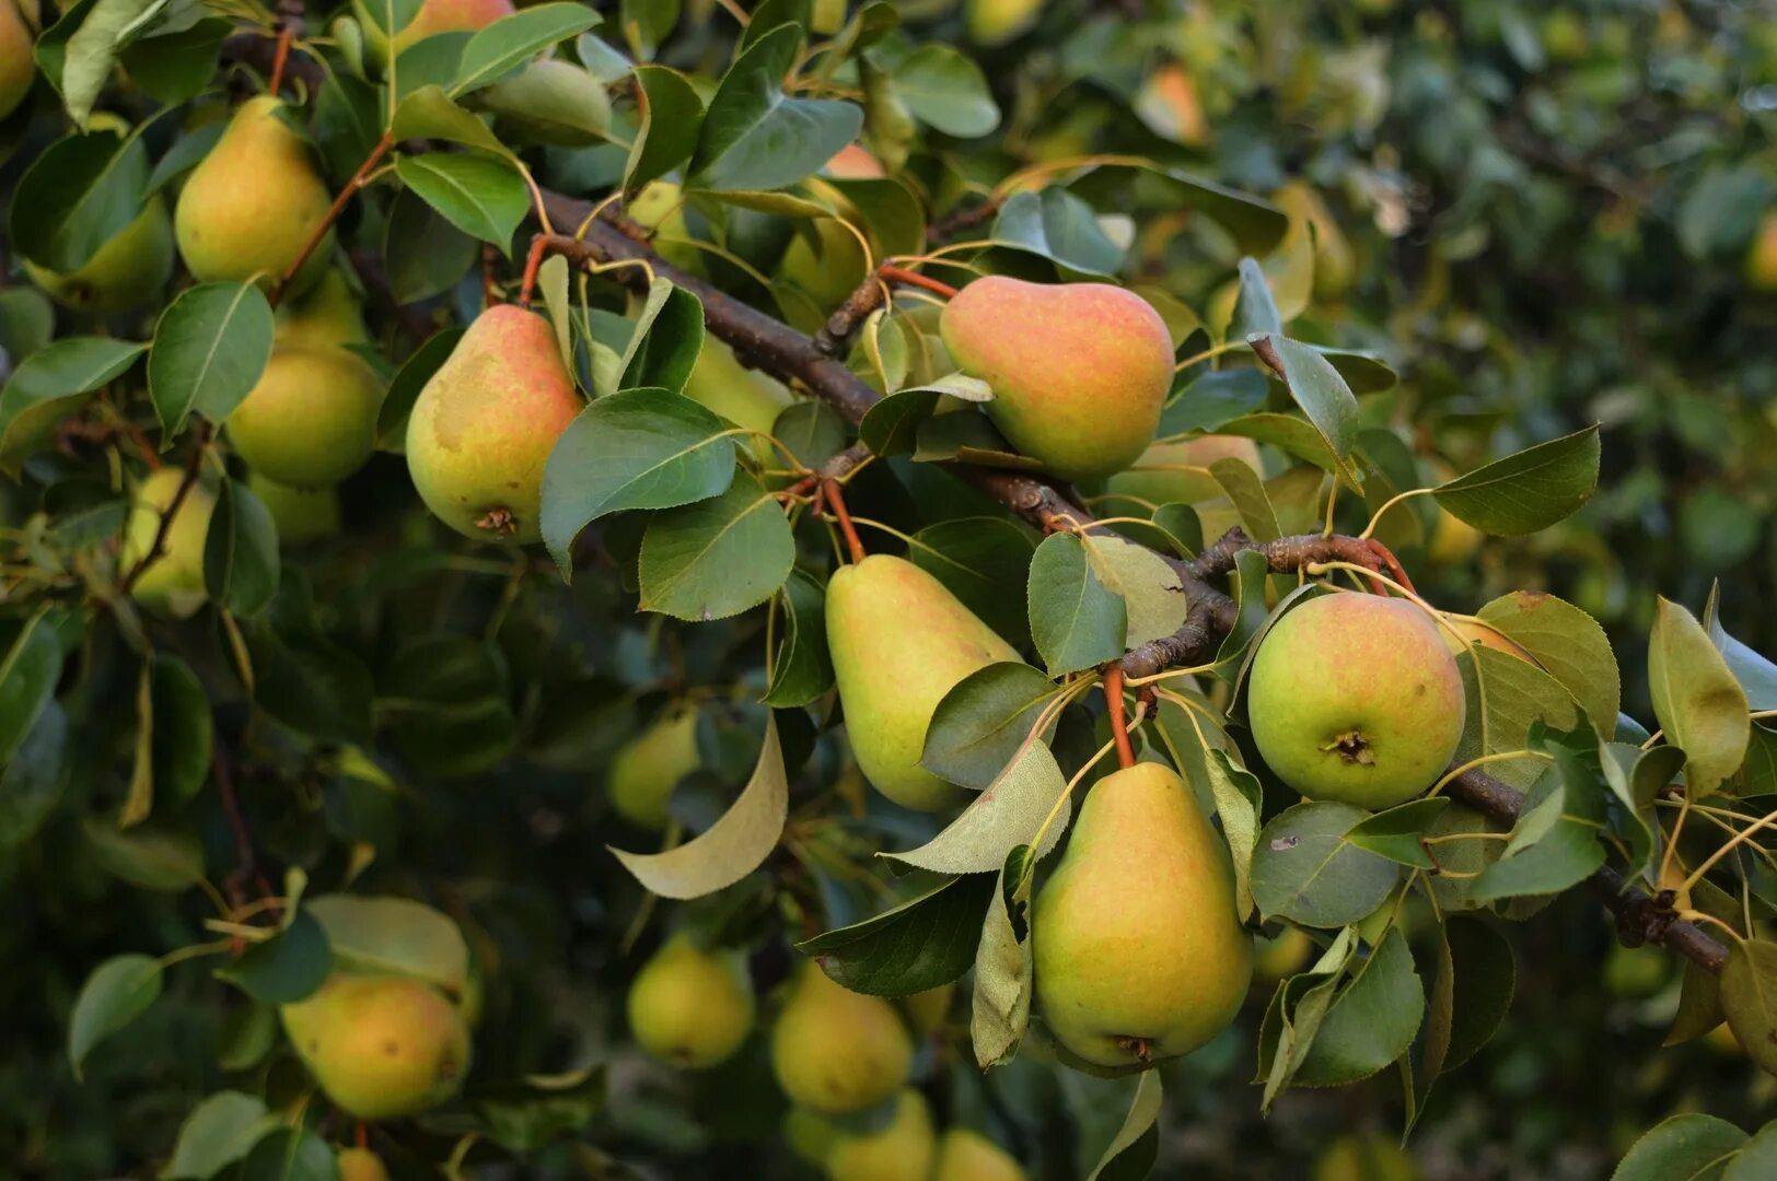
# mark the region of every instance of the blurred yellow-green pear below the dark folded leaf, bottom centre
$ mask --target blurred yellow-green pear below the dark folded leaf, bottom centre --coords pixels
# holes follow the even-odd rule
[[[862,1112],[906,1083],[913,1041],[881,996],[833,984],[807,964],[771,1028],[771,1069],[793,1103],[821,1115]]]

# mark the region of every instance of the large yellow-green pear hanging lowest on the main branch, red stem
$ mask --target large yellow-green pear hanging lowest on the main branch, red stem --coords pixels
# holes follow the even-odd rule
[[[1056,1039],[1098,1066],[1189,1053],[1253,979],[1228,847],[1171,767],[1093,785],[1031,916],[1036,1000]]]

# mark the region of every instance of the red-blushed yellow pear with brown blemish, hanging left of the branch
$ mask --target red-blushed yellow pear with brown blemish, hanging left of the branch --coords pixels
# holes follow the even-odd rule
[[[419,499],[464,536],[538,540],[544,465],[585,405],[549,321],[489,307],[407,419],[407,471]]]

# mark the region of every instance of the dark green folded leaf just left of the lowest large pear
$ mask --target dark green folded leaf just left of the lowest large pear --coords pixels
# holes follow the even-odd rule
[[[796,950],[853,993],[924,993],[968,971],[993,888],[986,874],[963,874],[874,918],[803,939]]]

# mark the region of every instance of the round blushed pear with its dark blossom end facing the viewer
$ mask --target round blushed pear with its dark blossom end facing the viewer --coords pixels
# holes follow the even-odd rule
[[[1265,632],[1246,712],[1265,765],[1308,799],[1391,808],[1450,765],[1462,673],[1418,606],[1324,595]]]

